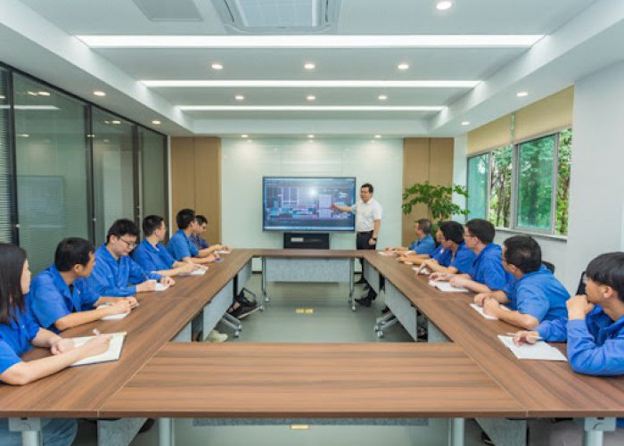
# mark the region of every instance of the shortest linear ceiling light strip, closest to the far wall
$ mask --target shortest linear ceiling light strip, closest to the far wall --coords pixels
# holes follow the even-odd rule
[[[444,105],[178,105],[181,111],[441,111]]]

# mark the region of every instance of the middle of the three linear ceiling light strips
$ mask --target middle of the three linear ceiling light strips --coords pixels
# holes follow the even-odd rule
[[[181,88],[473,88],[480,80],[142,80],[146,87]]]

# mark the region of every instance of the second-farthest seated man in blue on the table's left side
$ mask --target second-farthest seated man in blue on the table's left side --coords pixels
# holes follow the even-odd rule
[[[195,211],[183,209],[177,212],[176,223],[178,227],[177,232],[171,236],[167,244],[167,251],[171,254],[171,257],[177,261],[197,263],[199,265],[212,263],[218,259],[217,253],[209,252],[209,249],[200,251],[191,240],[191,235],[197,227]]]

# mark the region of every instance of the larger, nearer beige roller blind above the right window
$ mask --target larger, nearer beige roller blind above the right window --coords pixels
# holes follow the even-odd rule
[[[514,142],[571,127],[574,87],[550,95],[515,112]]]

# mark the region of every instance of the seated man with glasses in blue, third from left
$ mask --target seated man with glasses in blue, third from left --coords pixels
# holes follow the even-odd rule
[[[126,297],[156,290],[156,283],[173,285],[171,277],[146,272],[130,258],[135,249],[138,227],[128,219],[116,220],[106,235],[106,243],[95,251],[95,266],[89,284],[104,296]]]

